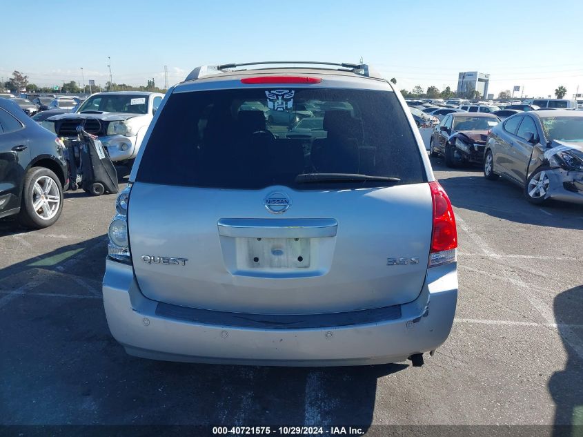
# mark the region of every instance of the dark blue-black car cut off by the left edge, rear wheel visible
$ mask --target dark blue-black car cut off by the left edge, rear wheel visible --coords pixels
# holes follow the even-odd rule
[[[0,99],[0,217],[29,228],[55,223],[68,183],[63,143],[14,101]]]

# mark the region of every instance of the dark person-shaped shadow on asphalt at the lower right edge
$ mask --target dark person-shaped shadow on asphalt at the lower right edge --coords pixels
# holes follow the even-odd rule
[[[568,354],[565,368],[551,376],[555,436],[583,436],[583,286],[563,291],[553,302],[555,322]],[[565,429],[571,427],[571,429]]]

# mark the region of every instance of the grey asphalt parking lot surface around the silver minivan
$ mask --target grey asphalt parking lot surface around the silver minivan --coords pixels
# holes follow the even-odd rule
[[[41,231],[0,222],[0,423],[583,424],[583,207],[533,206],[478,168],[432,164],[457,216],[460,299],[423,367],[132,358],[100,297],[115,195],[68,192]]]

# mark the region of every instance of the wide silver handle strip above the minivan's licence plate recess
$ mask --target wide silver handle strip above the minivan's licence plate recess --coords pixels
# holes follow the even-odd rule
[[[223,237],[322,238],[335,237],[335,219],[235,219],[218,222]]]

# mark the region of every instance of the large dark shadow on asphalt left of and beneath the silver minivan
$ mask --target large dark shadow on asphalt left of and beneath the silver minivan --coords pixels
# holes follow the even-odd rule
[[[63,246],[0,275],[3,425],[368,429],[377,379],[408,367],[243,367],[128,356],[103,311],[106,244],[101,235]]]

